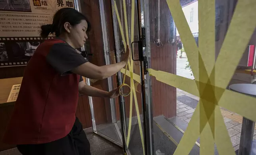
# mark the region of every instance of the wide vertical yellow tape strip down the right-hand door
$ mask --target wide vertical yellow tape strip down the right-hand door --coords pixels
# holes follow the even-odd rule
[[[202,57],[199,66],[204,65],[205,70],[199,68],[200,82],[214,84],[215,75],[209,76],[215,63],[215,0],[198,0],[198,26],[200,35],[199,51]],[[213,71],[214,72],[214,71]],[[205,85],[198,85],[198,89],[205,91]],[[212,87],[210,87],[212,88]],[[213,89],[209,90],[214,93]],[[209,92],[208,92],[209,93]],[[202,93],[200,93],[202,94]],[[201,97],[201,95],[200,95]],[[215,130],[215,104],[200,100],[200,154],[214,155],[214,130]]]

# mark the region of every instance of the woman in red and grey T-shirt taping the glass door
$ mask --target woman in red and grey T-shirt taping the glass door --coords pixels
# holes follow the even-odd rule
[[[76,118],[78,91],[88,96],[114,98],[111,92],[86,85],[82,76],[105,79],[129,60],[95,66],[77,51],[85,44],[90,25],[72,8],[56,12],[51,25],[41,26],[41,36],[55,39],[37,47],[26,66],[15,109],[4,142],[16,144],[23,155],[90,155],[90,144]]]

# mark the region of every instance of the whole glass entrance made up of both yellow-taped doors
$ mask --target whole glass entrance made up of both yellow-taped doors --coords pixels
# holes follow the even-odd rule
[[[126,44],[132,50],[127,72],[118,73],[118,84],[131,89],[119,98],[117,121],[126,153],[250,152],[256,137],[250,84],[256,22],[249,10],[255,5],[252,0],[111,1],[116,61]]]

